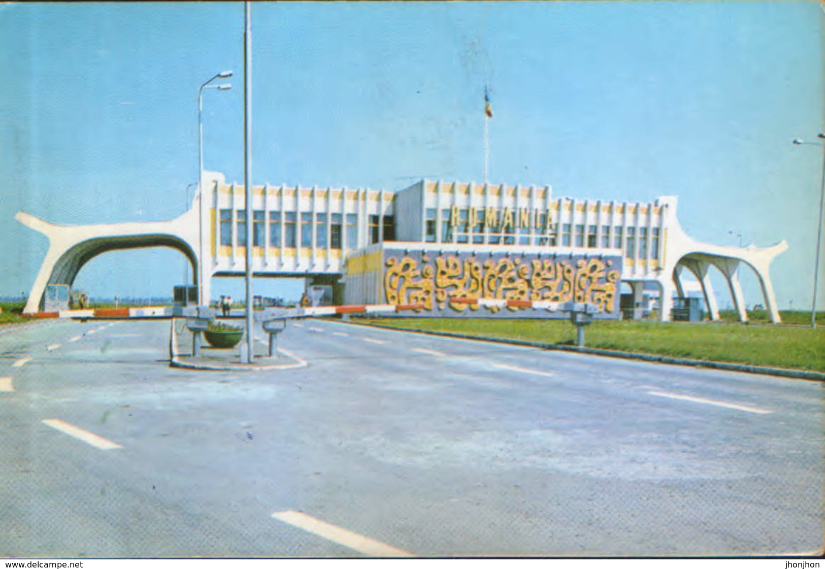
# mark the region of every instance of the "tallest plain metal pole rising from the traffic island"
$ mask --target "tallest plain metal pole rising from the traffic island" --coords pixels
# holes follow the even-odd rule
[[[251,364],[255,340],[252,337],[252,7],[249,0],[243,2],[243,7],[243,184],[246,190],[247,210],[247,341],[241,348],[241,361]]]

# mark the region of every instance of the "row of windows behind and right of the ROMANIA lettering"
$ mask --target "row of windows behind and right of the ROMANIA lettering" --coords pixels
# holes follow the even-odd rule
[[[484,242],[484,212],[479,211],[480,219],[472,228],[469,227],[467,221],[467,210],[464,209],[459,213],[459,223],[454,227],[450,224],[450,210],[441,210],[441,242],[453,242],[455,233],[455,242],[458,243],[483,243]],[[540,226],[545,227],[546,214],[540,214]],[[583,223],[577,223],[573,227],[573,223],[562,223],[561,232],[556,223],[549,223],[546,225],[548,232],[535,235],[530,233],[530,228],[513,228],[508,227],[507,231],[503,231],[500,226],[492,226],[487,235],[488,243],[504,245],[529,245],[530,238],[535,237],[535,243],[538,245],[546,245],[555,247],[557,245],[557,235],[561,247],[600,247],[598,242],[598,232],[596,225],[588,225],[585,231]],[[436,242],[436,209],[427,209],[427,217],[425,219],[425,241],[428,243]],[[617,226],[613,228],[613,247],[617,249],[624,248],[625,256],[636,256],[636,228],[627,228],[627,235],[623,235],[624,228]],[[610,226],[601,226],[601,247],[610,247]],[[659,228],[651,228],[651,256],[653,259],[659,258]],[[586,245],[587,243],[587,245]],[[639,228],[639,256],[646,257],[648,255],[648,228]]]

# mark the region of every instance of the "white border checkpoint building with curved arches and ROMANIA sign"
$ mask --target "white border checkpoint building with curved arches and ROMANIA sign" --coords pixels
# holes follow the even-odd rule
[[[18,221],[50,242],[24,312],[43,310],[47,286],[71,286],[95,256],[138,247],[181,251],[198,302],[209,303],[214,277],[245,273],[247,219],[243,185],[204,172],[202,187],[202,202],[198,192],[191,209],[165,222],[64,226],[19,212]],[[668,321],[674,294],[686,296],[688,270],[718,320],[708,273],[715,266],[745,322],[743,265],[757,275],[771,322],[780,322],[769,267],[787,243],[697,242],[680,226],[675,196],[580,200],[556,198],[550,186],[429,180],[398,191],[265,185],[252,195],[253,275],[303,277],[330,287],[337,304],[422,305],[417,316],[554,317],[559,313],[496,301],[575,301],[617,317],[626,283],[631,308],[641,305],[646,285],[657,289],[658,315]]]

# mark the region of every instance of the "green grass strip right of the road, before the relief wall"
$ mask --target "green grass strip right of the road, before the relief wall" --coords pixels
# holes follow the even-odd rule
[[[808,314],[808,322],[809,318]],[[382,318],[361,322],[546,344],[573,344],[576,339],[576,328],[567,320]],[[604,350],[825,371],[825,327],[596,321],[587,327],[585,343],[588,348]]]

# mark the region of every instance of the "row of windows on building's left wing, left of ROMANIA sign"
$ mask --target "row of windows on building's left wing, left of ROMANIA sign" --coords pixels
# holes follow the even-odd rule
[[[263,211],[252,212],[252,246],[263,247],[265,236],[265,214]],[[370,243],[379,242],[379,232],[382,226],[380,215],[370,215]],[[394,241],[395,223],[391,215],[384,215],[384,241]],[[314,219],[313,219],[314,218]],[[346,225],[344,224],[346,221]],[[328,223],[329,222],[329,223]],[[238,247],[247,245],[247,212],[243,209],[235,211],[236,233]],[[283,227],[281,227],[283,225]],[[284,212],[283,222],[281,222],[281,212],[269,212],[269,246],[297,247],[300,242],[301,247],[312,247],[313,230],[315,234],[315,247],[326,249],[341,249],[343,235],[347,236],[347,249],[358,247],[358,215],[347,214],[313,214],[312,212],[302,212],[300,218],[295,212]],[[329,241],[328,241],[329,238]],[[232,245],[232,209],[220,210],[220,244],[224,246]]]

